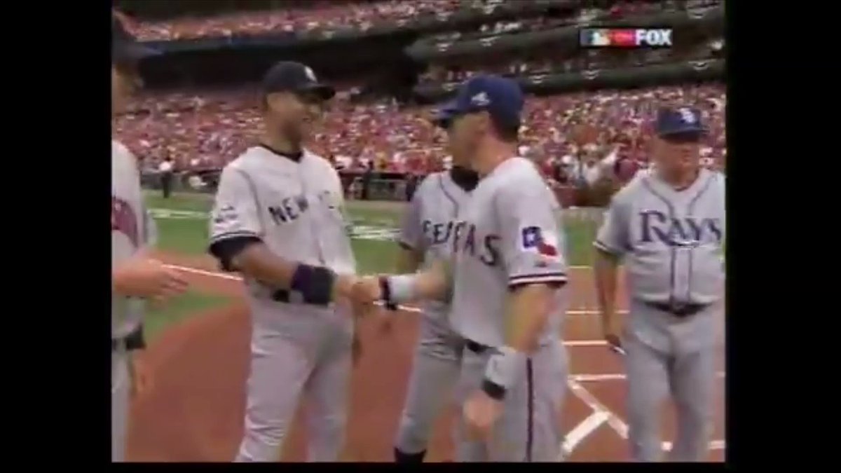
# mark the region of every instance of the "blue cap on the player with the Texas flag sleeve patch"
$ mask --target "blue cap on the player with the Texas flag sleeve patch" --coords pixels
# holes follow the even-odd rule
[[[500,124],[519,127],[523,102],[522,89],[517,82],[481,74],[459,86],[456,97],[438,109],[435,123],[446,128],[458,115],[487,111]]]

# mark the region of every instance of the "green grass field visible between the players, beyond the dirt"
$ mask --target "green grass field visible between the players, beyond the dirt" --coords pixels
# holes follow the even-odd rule
[[[212,195],[209,194],[173,194],[170,199],[163,199],[159,192],[147,192],[146,205],[155,215],[158,227],[157,247],[180,254],[204,253],[208,242],[207,214],[211,204]],[[347,212],[354,226],[353,251],[360,273],[394,271],[398,246],[391,235],[399,225],[403,208],[402,203],[347,202]],[[571,265],[590,266],[593,261],[591,245],[598,223],[592,215],[594,212],[570,211],[565,214],[564,230]],[[183,295],[167,308],[151,311],[147,318],[147,337],[152,339],[172,323],[227,301],[219,295],[197,292]]]

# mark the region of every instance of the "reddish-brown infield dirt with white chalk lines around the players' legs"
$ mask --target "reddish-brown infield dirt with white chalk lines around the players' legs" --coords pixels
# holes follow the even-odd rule
[[[241,295],[241,283],[215,274],[207,260],[166,257],[189,265],[199,288]],[[565,328],[570,380],[563,425],[571,450],[569,461],[627,460],[627,423],[622,396],[621,360],[599,339],[599,325],[586,270],[574,273],[573,294]],[[410,374],[418,314],[395,320],[389,337],[363,327],[364,353],[352,376],[346,448],[342,460],[391,461],[392,439]],[[245,409],[249,320],[237,303],[173,328],[146,350],[155,387],[132,406],[128,458],[132,461],[230,461],[239,445]],[[718,368],[723,370],[723,359]],[[721,461],[724,449],[723,373],[717,379],[716,425],[710,460]],[[305,403],[305,401],[304,401]],[[302,408],[305,408],[302,407]],[[300,413],[300,412],[299,412]],[[429,461],[452,460],[450,426],[455,412],[436,423]],[[674,416],[664,416],[665,439],[673,438]],[[296,421],[284,446],[283,460],[305,459],[305,427]]]

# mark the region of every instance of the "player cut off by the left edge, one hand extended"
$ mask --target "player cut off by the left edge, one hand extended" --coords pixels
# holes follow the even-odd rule
[[[112,115],[140,85],[137,62],[154,54],[139,45],[117,16],[111,19]],[[130,395],[138,380],[131,352],[145,346],[141,320],[145,300],[166,300],[187,288],[173,269],[146,256],[155,227],[143,205],[140,173],[131,152],[111,141],[111,460],[125,460]]]

